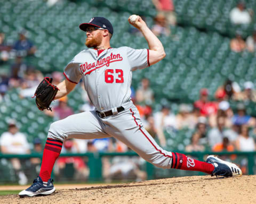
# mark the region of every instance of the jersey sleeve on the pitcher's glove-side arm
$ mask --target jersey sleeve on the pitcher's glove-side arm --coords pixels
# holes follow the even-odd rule
[[[74,59],[68,63],[63,74],[65,75],[66,79],[70,82],[78,83],[81,80],[82,73],[80,71],[79,62],[76,61],[76,57],[74,57]]]

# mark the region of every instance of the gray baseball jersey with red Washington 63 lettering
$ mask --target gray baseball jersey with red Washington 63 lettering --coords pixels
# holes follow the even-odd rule
[[[148,49],[130,47],[83,50],[67,65],[65,76],[85,90],[98,111],[107,111],[131,100],[132,71],[148,66]]]

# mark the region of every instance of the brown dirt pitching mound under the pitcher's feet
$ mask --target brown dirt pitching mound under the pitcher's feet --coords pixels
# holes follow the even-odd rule
[[[90,188],[62,189],[51,196],[2,196],[0,203],[256,203],[256,175],[215,179],[190,176]]]

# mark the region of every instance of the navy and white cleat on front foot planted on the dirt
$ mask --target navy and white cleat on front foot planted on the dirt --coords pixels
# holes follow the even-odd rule
[[[53,180],[49,179],[47,182],[47,186],[45,186],[43,185],[41,177],[38,176],[37,179],[34,179],[33,184],[29,188],[19,193],[19,196],[22,198],[25,196],[33,197],[49,195],[55,191],[52,182]]]

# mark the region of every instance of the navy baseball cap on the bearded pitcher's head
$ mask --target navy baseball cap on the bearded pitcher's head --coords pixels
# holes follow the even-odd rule
[[[89,27],[89,25],[106,29],[113,35],[113,27],[109,20],[104,17],[93,17],[91,18],[89,23],[82,23],[81,25],[79,25],[79,28],[83,31],[86,31],[86,28]]]

